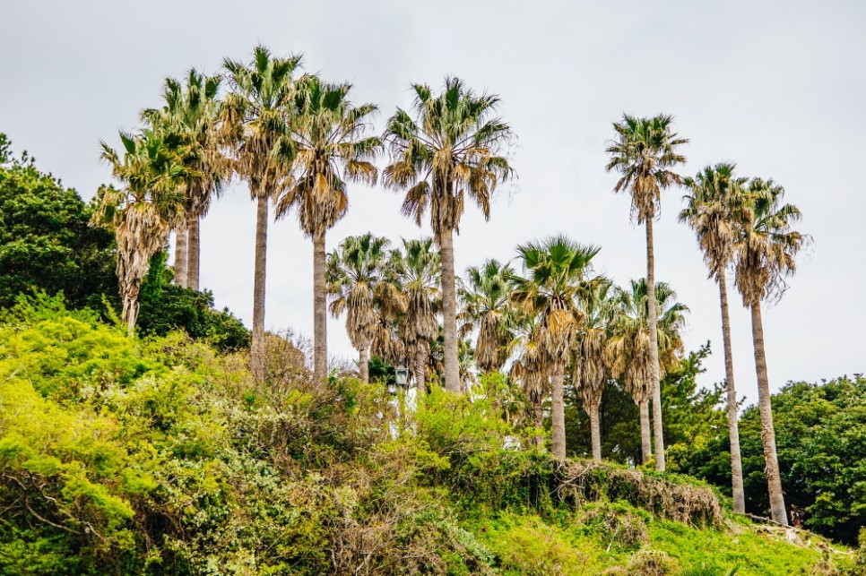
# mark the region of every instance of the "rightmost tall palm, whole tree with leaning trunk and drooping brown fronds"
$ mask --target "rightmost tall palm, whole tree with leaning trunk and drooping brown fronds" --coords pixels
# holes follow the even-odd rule
[[[761,300],[782,297],[787,288],[785,279],[797,271],[794,257],[809,241],[809,237],[792,230],[792,224],[801,218],[801,213],[793,204],[783,204],[783,198],[784,189],[773,180],[752,178],[749,181],[744,205],[735,214],[734,254],[737,289],[742,296],[743,305],[751,309],[752,315],[755,371],[758,374],[758,408],[770,513],[773,520],[787,525],[788,516],[784,508],[779,461],[775,450],[770,385],[766,374]]]

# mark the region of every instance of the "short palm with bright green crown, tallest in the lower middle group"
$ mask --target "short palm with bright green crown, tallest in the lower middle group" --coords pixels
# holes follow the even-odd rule
[[[585,288],[591,262],[599,248],[580,245],[566,236],[517,247],[526,278],[513,276],[512,301],[524,314],[537,318],[531,339],[550,374],[551,450],[554,458],[566,458],[566,420],[563,381],[571,349],[584,322],[577,293]]]

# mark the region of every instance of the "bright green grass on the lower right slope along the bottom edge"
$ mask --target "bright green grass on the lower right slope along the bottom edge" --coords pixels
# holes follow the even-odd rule
[[[662,558],[664,573],[695,576],[723,576],[734,568],[738,576],[834,574],[839,573],[834,566],[838,570],[850,563],[847,555],[835,554],[828,564],[827,554],[817,546],[826,543],[821,538],[796,546],[747,520],[728,521],[724,529],[696,528],[655,520],[624,503],[587,508],[610,512],[607,518],[626,517],[626,526],[644,521],[645,541],[619,541],[616,529],[583,510],[555,518],[533,512],[489,513],[463,522],[463,528],[496,556],[500,573],[515,576],[640,573],[636,563],[646,556]]]

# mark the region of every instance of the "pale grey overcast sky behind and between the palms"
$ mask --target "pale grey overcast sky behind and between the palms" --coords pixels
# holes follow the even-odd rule
[[[469,208],[456,266],[564,232],[602,246],[598,269],[619,283],[645,275],[643,228],[604,172],[611,122],[623,112],[675,116],[690,142],[684,175],[722,160],[772,177],[803,213],[815,243],[781,303],[764,315],[771,388],[866,370],[866,3],[862,2],[15,2],[0,20],[0,132],[85,199],[108,182],[99,142],[119,145],[144,107],[160,106],[166,76],[256,43],[301,53],[305,69],[354,86],[378,104],[377,130],[408,107],[410,82],[456,74],[502,98],[517,137],[519,178],[500,189],[485,223]],[[384,162],[380,163],[384,166]],[[380,187],[349,190],[351,207],[328,248],[372,230],[397,240],[429,234]],[[689,349],[711,340],[701,383],[723,379],[718,288],[694,236],[677,222],[682,191],[662,199],[656,278],[691,309]],[[255,205],[232,185],[202,227],[202,284],[250,322]],[[266,325],[312,335],[312,245],[294,217],[268,238]],[[737,388],[757,400],[749,314],[732,299]],[[342,320],[333,354],[353,355]]]

